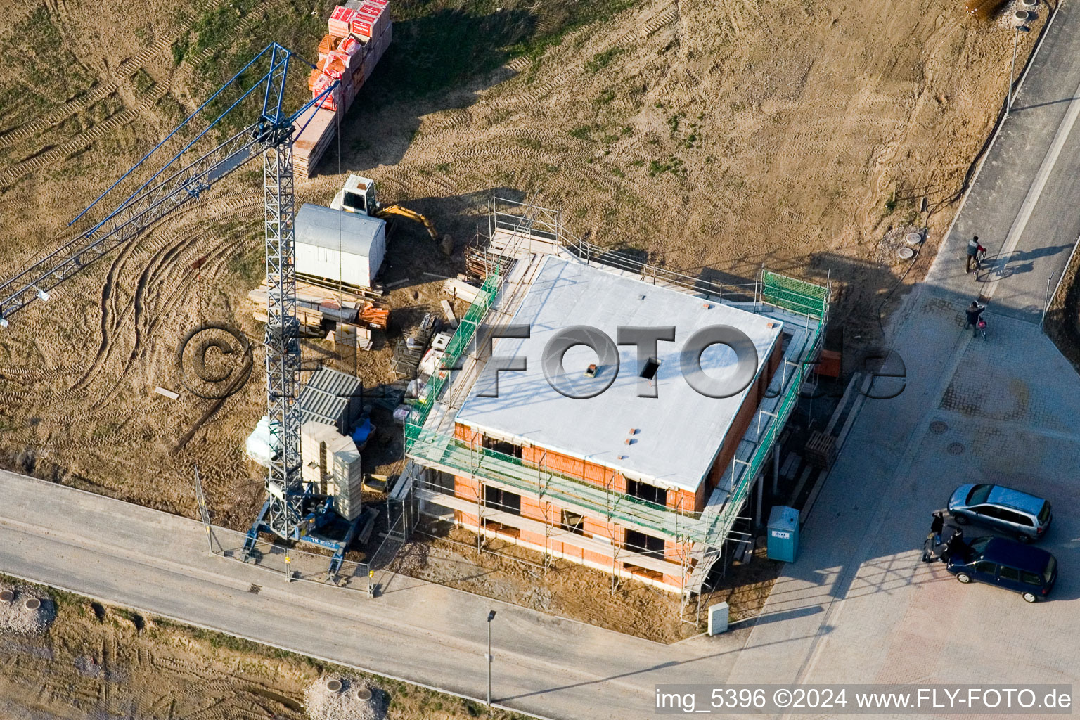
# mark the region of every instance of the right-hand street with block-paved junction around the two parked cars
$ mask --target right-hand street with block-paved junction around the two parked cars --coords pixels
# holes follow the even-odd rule
[[[728,681],[1080,685],[1080,378],[1039,329],[1047,279],[1056,284],[1080,235],[1078,25],[1067,4],[928,280],[894,318],[904,392],[864,404],[805,552],[766,604],[788,620],[754,628]],[[977,284],[963,272],[971,234],[994,260]],[[991,299],[988,342],[961,331],[977,293]],[[1051,601],[1028,606],[920,562],[930,513],[977,481],[1054,502],[1044,544],[1064,570]]]

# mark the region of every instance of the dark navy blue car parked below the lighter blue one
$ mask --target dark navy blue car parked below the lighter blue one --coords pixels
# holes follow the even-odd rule
[[[1020,593],[1028,602],[1050,595],[1057,582],[1057,558],[1040,547],[1008,538],[980,538],[945,568],[961,583],[981,582]]]

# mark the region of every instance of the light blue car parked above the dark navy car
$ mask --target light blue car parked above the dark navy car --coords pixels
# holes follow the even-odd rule
[[[1053,517],[1042,498],[986,484],[958,487],[948,500],[948,512],[960,525],[978,522],[1022,543],[1042,538]]]

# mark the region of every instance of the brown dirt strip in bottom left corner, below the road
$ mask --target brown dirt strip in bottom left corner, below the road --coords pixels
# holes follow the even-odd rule
[[[23,583],[16,585],[25,586]],[[301,720],[321,676],[372,690],[390,720],[521,716],[124,608],[33,587],[56,620],[43,635],[0,631],[0,716],[26,720]],[[318,720],[312,718],[312,720]]]

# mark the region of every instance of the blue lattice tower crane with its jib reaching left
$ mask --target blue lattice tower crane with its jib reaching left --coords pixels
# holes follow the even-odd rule
[[[338,83],[296,112],[284,112],[286,81],[294,60],[306,68],[314,67],[276,43],[267,45],[68,227],[82,220],[92,209],[122,198],[114,209],[46,257],[0,283],[0,328],[6,327],[15,313],[35,300],[48,300],[50,290],[86,266],[133,242],[154,222],[198,200],[215,182],[261,157],[269,288],[267,415],[271,447],[279,451],[270,461],[267,500],[247,533],[244,559],[253,556],[259,532],[266,531],[286,540],[333,549],[329,576],[336,578],[356,524],[333,536],[321,533],[320,529],[337,519],[333,514],[333,501],[315,494],[312,485],[303,483],[300,473],[300,340],[296,317],[293,136],[295,123],[305,111],[329,95]],[[225,109],[217,112],[222,106]],[[257,114],[242,130],[213,145],[222,132],[235,127],[237,118],[245,117],[246,112],[254,114],[255,110]],[[213,120],[207,122],[211,117]],[[167,160],[158,165],[163,158]]]

